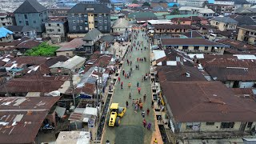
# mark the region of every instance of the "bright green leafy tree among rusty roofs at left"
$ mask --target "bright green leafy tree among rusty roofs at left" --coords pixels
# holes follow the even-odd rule
[[[26,56],[54,56],[55,51],[58,50],[58,46],[50,46],[46,42],[42,42],[40,45],[33,47],[30,50],[26,50]]]

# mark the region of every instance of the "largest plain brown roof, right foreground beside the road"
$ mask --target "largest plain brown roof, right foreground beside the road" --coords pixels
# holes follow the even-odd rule
[[[222,82],[161,82],[176,122],[254,122],[256,103]]]

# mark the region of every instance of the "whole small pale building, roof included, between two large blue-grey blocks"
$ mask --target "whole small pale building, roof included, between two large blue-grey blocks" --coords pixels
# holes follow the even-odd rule
[[[66,18],[50,18],[50,20],[45,23],[45,26],[47,37],[51,35],[59,35],[62,38],[66,37],[68,30]]]

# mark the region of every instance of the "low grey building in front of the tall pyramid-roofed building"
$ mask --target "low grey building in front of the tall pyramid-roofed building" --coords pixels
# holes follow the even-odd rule
[[[5,26],[6,29],[14,33],[14,39],[28,37],[37,38],[36,30],[30,26]]]

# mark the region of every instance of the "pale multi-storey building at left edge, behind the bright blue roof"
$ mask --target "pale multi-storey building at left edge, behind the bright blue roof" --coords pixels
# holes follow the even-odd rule
[[[0,13],[0,26],[14,26],[16,25],[14,14],[8,12]]]

